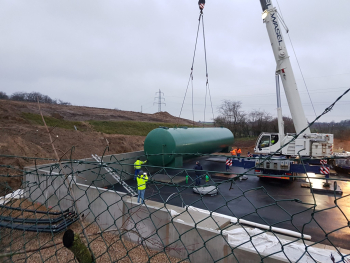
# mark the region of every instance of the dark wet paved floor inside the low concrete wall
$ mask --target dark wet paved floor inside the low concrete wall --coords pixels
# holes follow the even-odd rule
[[[188,160],[184,162],[184,168],[193,169],[195,162],[198,160],[204,170],[222,171],[222,173],[225,174],[224,163],[207,161],[206,159],[208,159],[208,157]],[[171,175],[179,173],[179,170],[167,169],[167,172]],[[234,175],[243,172],[245,172],[245,170],[240,167],[232,167],[230,170],[230,173]],[[329,233],[335,229],[344,227],[343,229],[329,234],[328,238],[334,246],[350,249],[350,244],[348,242],[350,239],[350,230],[347,227],[348,222],[340,209],[334,207],[334,195],[315,193],[317,206],[314,210],[312,208],[314,200],[310,188],[301,187],[302,183],[306,183],[306,179],[300,178],[294,182],[283,179],[260,179],[254,176],[253,171],[248,175],[247,180],[235,180],[235,183],[231,185],[231,182],[228,182],[229,178],[220,176],[221,173],[219,173],[219,176],[217,176],[216,172],[210,172],[209,174],[211,175],[210,181],[206,183],[203,178],[201,180],[201,186],[218,182],[221,183],[219,185],[218,195],[216,196],[200,196],[193,192],[196,177],[192,171],[190,172],[191,178],[188,184],[186,184],[184,180],[185,174],[179,175],[183,180],[178,184],[172,184],[171,182],[164,183],[164,180],[158,181],[157,178],[155,178],[154,183],[147,186],[145,198],[147,200],[165,203],[171,194],[181,192],[182,199],[178,194],[174,194],[169,198],[167,203],[180,207],[185,205],[194,206],[297,232],[300,232],[304,227],[303,233],[311,235],[312,241],[321,242],[325,245],[332,244],[324,240],[325,233],[323,230]],[[305,174],[300,174],[300,176],[306,177]],[[324,178],[322,175],[317,175],[315,177]],[[332,177],[350,179],[348,175],[334,175]],[[312,180],[315,182],[320,181],[320,179],[316,178]],[[150,180],[153,180],[152,177]],[[136,187],[136,182],[132,179],[126,182]],[[343,196],[350,194],[349,182],[338,181],[338,184],[343,190]],[[117,191],[125,192],[120,185],[114,185],[113,187]],[[275,200],[288,201],[276,202]],[[295,200],[301,200],[304,204]],[[350,216],[348,212],[350,211],[348,198],[338,200],[337,204],[347,216]],[[308,208],[310,209],[307,210]],[[330,209],[318,212],[326,208]]]

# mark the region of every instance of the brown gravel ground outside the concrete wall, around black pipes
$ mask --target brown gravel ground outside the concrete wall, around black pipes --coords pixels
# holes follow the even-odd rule
[[[7,204],[10,205],[10,204]],[[15,201],[12,207],[20,206],[27,209],[39,209],[45,211],[44,207],[32,204],[26,200]],[[9,214],[6,209],[1,209],[2,215]],[[21,213],[16,211],[12,213],[14,217],[35,218],[34,214]],[[96,262],[178,262],[177,258],[167,256],[164,252],[149,250],[145,245],[134,244],[115,232],[99,233],[101,230],[95,224],[83,222],[85,232],[88,235],[90,249],[93,251]],[[74,233],[80,233],[81,239],[87,244],[87,240],[82,233],[83,224],[78,221],[69,226]],[[73,253],[62,244],[64,232],[59,234],[24,232],[11,230],[8,228],[0,229],[0,254],[26,251],[12,257],[0,257],[1,262],[77,262]],[[48,248],[46,248],[48,247]],[[159,253],[159,254],[157,254]],[[187,262],[187,261],[185,261]]]

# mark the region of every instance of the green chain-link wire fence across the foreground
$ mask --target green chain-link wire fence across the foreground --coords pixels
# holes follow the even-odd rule
[[[294,181],[260,180],[255,167],[226,172],[225,163],[207,160],[215,156],[197,154],[208,193],[194,192],[201,187],[193,160],[184,168],[144,165],[149,180],[140,204],[137,157],[147,158],[134,153],[48,164],[0,155],[0,261],[78,261],[63,244],[71,229],[96,262],[350,262],[347,175],[331,176],[334,191],[322,195],[314,187],[325,178],[306,170],[289,176]],[[33,165],[5,165],[21,158]]]

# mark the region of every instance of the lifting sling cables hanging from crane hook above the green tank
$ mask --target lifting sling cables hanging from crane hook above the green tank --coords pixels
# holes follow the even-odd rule
[[[194,52],[193,52],[193,58],[192,58],[192,66],[191,66],[191,73],[190,73],[190,77],[188,79],[188,83],[187,83],[187,87],[186,87],[186,91],[185,91],[185,96],[183,98],[182,101],[182,105],[181,105],[181,110],[180,110],[180,114],[179,114],[179,118],[181,117],[181,113],[183,110],[183,106],[185,103],[185,99],[187,96],[187,92],[188,92],[188,88],[191,84],[191,88],[192,88],[192,120],[193,120],[193,126],[194,126],[194,107],[193,107],[193,66],[194,66],[194,60],[196,57],[196,51],[197,51],[197,43],[198,43],[198,35],[199,35],[199,30],[200,30],[200,25],[202,22],[202,30],[203,30],[203,42],[204,42],[204,56],[205,56],[205,70],[206,70],[206,90],[205,90],[205,106],[204,106],[204,122],[205,122],[205,111],[206,111],[206,106],[207,106],[207,96],[209,94],[209,98],[210,98],[210,104],[211,104],[211,109],[212,109],[212,114],[213,114],[213,119],[214,119],[214,109],[213,109],[213,103],[212,103],[212,99],[211,99],[211,94],[210,94],[210,86],[209,86],[209,78],[208,78],[208,63],[207,63],[207,51],[206,51],[206,44],[205,44],[205,29],[204,29],[204,16],[203,16],[203,9],[205,6],[205,0],[199,0],[198,1],[198,7],[199,7],[199,18],[198,18],[198,27],[197,27],[197,34],[196,34],[196,41],[195,41],[195,46],[194,46]]]

